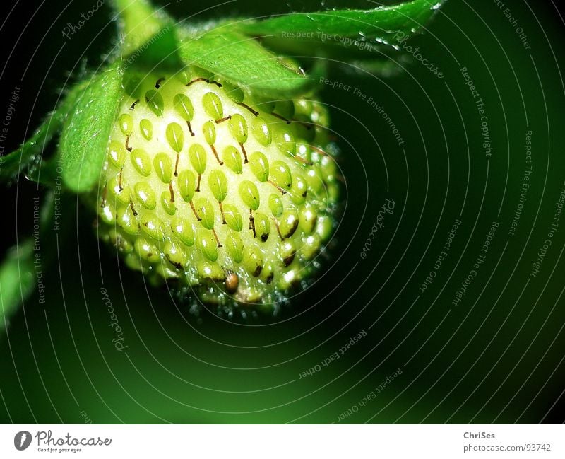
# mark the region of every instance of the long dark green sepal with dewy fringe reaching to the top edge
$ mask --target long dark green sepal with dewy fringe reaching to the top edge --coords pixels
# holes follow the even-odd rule
[[[276,50],[297,52],[309,44],[310,52],[331,54],[336,47],[370,52],[376,45],[406,40],[427,24],[444,1],[413,0],[373,10],[292,13],[249,21],[241,27],[248,35],[264,37],[266,45]]]

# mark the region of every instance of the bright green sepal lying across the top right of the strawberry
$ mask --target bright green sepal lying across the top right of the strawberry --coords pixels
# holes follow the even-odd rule
[[[179,40],[179,56],[257,95],[292,97],[307,91],[310,81],[297,69],[266,50],[253,38],[230,30],[230,25],[200,37]]]

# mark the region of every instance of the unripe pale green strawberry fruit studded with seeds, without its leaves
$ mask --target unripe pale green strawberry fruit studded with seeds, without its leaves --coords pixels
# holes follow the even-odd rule
[[[129,74],[97,190],[99,234],[151,281],[278,307],[331,237],[336,165],[311,100],[256,100],[187,68]]]

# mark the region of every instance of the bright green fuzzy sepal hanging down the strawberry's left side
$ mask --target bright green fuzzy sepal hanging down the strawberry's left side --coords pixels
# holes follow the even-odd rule
[[[122,74],[120,64],[95,74],[65,121],[59,144],[63,182],[75,192],[90,190],[100,175],[121,99]]]

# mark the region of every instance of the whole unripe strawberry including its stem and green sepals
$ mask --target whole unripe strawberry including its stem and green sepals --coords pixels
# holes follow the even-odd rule
[[[328,116],[308,98],[317,78],[285,56],[322,57],[311,62],[318,76],[347,60],[387,74],[381,48],[417,32],[444,0],[198,23],[151,0],[110,3],[117,47],[0,155],[0,182],[25,173],[54,194],[80,193],[126,265],[192,298],[196,313],[203,303],[276,313],[319,266],[339,192]],[[343,46],[312,38],[313,25]],[[347,42],[370,46],[352,52]],[[57,199],[48,205],[43,214],[57,215]],[[19,269],[18,258],[18,279]],[[6,304],[30,291],[11,289]]]

